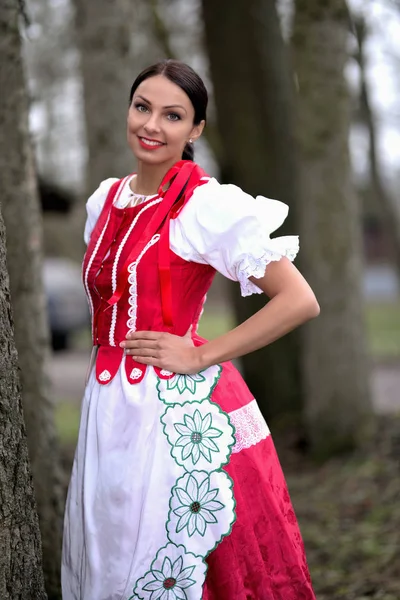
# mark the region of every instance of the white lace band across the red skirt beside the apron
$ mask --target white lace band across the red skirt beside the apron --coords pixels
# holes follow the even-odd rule
[[[250,448],[270,435],[268,425],[255,400],[230,412],[229,419],[236,430],[236,444],[232,448],[232,454]]]

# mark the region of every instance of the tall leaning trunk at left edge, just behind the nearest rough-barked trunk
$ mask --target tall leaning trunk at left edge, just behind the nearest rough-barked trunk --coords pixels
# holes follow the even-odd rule
[[[61,597],[62,501],[53,406],[45,375],[49,334],[42,287],[40,210],[29,144],[16,0],[1,4],[0,27],[0,88],[7,91],[0,94],[1,202],[43,566],[49,598],[55,600]],[[0,597],[3,600],[3,595]],[[32,598],[36,596],[29,596]]]

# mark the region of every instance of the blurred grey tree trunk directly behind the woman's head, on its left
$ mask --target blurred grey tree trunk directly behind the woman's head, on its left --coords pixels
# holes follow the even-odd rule
[[[132,171],[126,143],[129,90],[135,78],[130,55],[128,0],[74,0],[88,144],[87,192],[103,179]]]

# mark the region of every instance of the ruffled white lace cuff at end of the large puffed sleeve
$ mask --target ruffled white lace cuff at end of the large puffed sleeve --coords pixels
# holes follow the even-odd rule
[[[246,254],[239,257],[236,263],[235,271],[242,296],[251,296],[252,294],[262,294],[263,291],[249,281],[249,277],[261,279],[265,275],[265,269],[270,262],[281,260],[284,256],[290,261],[294,261],[299,251],[298,238],[294,237],[293,245],[283,248],[282,251],[265,250],[259,258],[254,255]],[[296,240],[297,239],[297,243]]]

